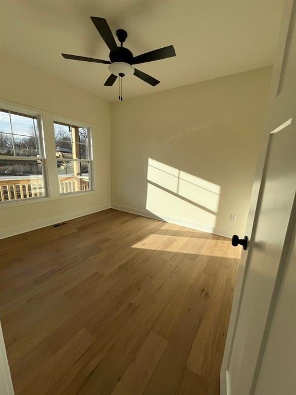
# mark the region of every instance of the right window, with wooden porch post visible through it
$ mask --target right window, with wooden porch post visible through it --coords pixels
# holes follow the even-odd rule
[[[54,140],[60,193],[90,190],[89,130],[54,122]]]

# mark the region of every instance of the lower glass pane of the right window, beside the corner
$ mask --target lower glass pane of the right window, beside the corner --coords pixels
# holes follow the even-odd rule
[[[89,186],[89,162],[58,160],[60,193],[84,191]]]

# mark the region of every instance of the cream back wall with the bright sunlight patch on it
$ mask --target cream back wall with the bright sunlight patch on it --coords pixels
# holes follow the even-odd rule
[[[113,103],[112,205],[244,236],[271,71]]]

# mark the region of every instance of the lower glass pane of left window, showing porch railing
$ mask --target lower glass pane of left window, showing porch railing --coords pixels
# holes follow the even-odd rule
[[[0,160],[0,201],[44,195],[41,160]]]

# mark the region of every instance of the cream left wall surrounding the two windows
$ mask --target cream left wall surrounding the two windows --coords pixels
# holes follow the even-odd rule
[[[94,192],[60,197],[51,180],[50,198],[0,205],[1,236],[45,226],[110,205],[109,103],[12,58],[0,59],[0,107],[41,114],[46,137],[47,165],[57,172],[53,120],[88,125],[93,133]],[[52,182],[53,181],[53,182]]]

